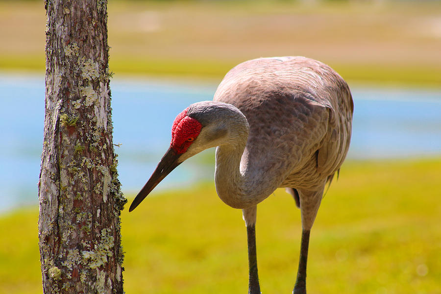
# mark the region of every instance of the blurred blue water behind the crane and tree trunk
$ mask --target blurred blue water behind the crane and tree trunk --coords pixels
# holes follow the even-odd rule
[[[136,193],[168,148],[176,115],[193,102],[211,100],[216,85],[115,78],[111,89],[114,143],[122,144],[115,147],[120,180],[124,192]],[[0,74],[0,211],[38,203],[44,91],[44,77]],[[356,86],[351,91],[348,158],[441,155],[441,91]],[[213,179],[214,167],[199,162],[195,156],[180,165],[158,189]]]

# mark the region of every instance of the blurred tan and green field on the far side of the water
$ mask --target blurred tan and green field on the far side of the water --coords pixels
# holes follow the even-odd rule
[[[110,69],[219,80],[261,56],[319,59],[348,80],[441,85],[441,2],[109,1]],[[366,1],[368,2],[368,1]],[[43,73],[41,1],[0,2],[0,70]]]

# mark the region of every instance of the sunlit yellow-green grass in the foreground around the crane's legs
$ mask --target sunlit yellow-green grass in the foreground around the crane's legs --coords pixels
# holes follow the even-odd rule
[[[311,233],[308,291],[440,293],[441,158],[347,162]],[[37,208],[1,216],[0,293],[41,293]],[[246,293],[246,230],[212,183],[154,193],[122,214],[126,293]],[[259,205],[263,293],[289,293],[300,216],[283,190]],[[54,271],[56,275],[56,270]]]

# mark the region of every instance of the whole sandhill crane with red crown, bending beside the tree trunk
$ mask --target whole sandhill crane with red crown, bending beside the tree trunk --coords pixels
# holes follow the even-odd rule
[[[260,294],[256,207],[278,187],[300,208],[302,235],[294,294],[306,294],[310,230],[326,183],[339,172],[351,137],[353,101],[343,78],[305,57],[249,60],[230,70],[213,101],[174,120],[170,148],[130,205],[132,211],[184,160],[216,148],[215,185],[240,208],[247,230],[249,294]]]

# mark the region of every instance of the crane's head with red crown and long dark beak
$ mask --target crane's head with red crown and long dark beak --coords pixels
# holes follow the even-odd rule
[[[141,201],[172,170],[184,160],[210,147],[221,145],[226,140],[234,140],[229,135],[232,118],[245,116],[231,104],[203,101],[190,105],[173,122],[172,142],[152,173],[143,189],[133,200],[129,211],[135,209]]]

